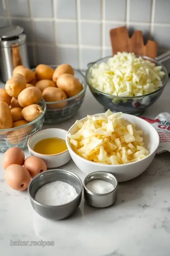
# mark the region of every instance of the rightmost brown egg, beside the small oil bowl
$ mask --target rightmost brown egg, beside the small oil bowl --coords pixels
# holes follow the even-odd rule
[[[24,167],[28,170],[31,178],[40,174],[44,171],[47,171],[47,165],[45,162],[38,156],[31,155],[26,158],[24,162]]]

